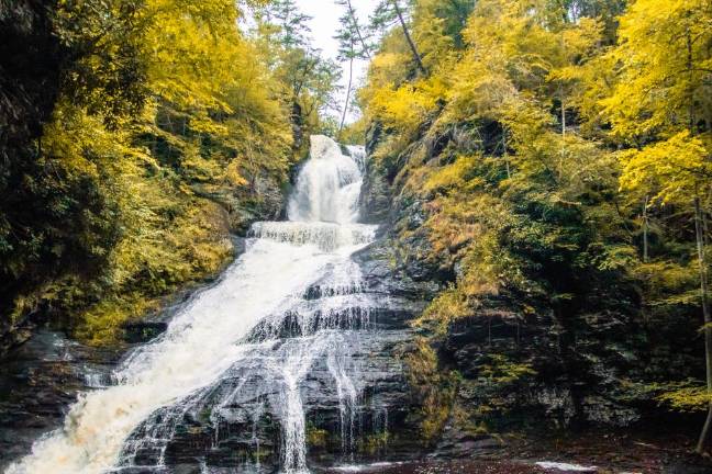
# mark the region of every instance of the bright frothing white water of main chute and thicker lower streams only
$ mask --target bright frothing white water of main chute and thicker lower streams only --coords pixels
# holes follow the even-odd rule
[[[249,363],[262,347],[244,342],[258,323],[303,306],[305,289],[327,274],[334,294],[357,286],[348,256],[372,239],[375,228],[356,224],[364,154],[352,151],[356,159],[342,155],[330,138],[313,136],[311,159],[289,202],[291,222],[255,224],[245,253],[219,283],[196,295],[166,334],[133,352],[114,374],[116,385],[80,395],[64,428],[36,441],[32,454],[7,474],[98,474],[119,463],[131,465],[146,443],[162,449],[163,463],[165,444],[190,404],[231,368]],[[357,388],[345,373],[340,337],[322,330],[289,339],[266,357],[279,385],[272,405],[280,411],[285,472],[307,470],[300,382],[320,354],[329,354],[343,408],[343,438],[353,438],[344,430],[353,430]],[[129,440],[162,407],[168,408],[168,421],[149,422],[146,439]]]

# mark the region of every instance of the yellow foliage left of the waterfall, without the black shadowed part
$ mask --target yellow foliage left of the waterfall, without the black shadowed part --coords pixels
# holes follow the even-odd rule
[[[84,22],[111,24],[109,16],[120,14],[112,2],[101,4],[103,13],[79,3],[62,3],[58,15],[71,26],[63,41],[80,43],[96,27]],[[77,262],[79,270],[20,295],[15,314],[43,301],[64,305],[79,337],[113,342],[121,325],[230,260],[226,211],[193,189],[240,205],[240,199],[256,198],[248,187],[253,177],[278,185],[294,159],[289,110],[278,95],[283,84],[241,33],[241,14],[232,0],[147,0],[131,29],[102,32],[98,43],[92,37],[96,50],[81,58],[81,67],[118,76],[113,61],[129,56],[136,77],[121,80],[141,91],[132,103],[140,110],[116,112],[125,109],[114,110],[113,102],[124,99],[105,87],[82,84],[105,109],[60,91],[40,159],[57,176],[58,213],[80,208],[74,217],[86,221],[84,234],[71,238],[89,255],[86,264]],[[55,245],[59,255],[63,242]]]

